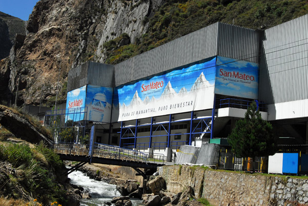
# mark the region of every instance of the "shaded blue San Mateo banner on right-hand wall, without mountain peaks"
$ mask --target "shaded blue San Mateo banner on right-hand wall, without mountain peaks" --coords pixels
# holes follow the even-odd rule
[[[258,99],[258,64],[217,56],[216,65],[216,94]]]

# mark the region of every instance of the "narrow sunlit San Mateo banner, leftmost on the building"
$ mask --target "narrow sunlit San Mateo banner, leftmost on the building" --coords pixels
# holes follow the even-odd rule
[[[84,119],[86,102],[86,86],[72,90],[67,93],[66,115],[67,120],[80,121]]]

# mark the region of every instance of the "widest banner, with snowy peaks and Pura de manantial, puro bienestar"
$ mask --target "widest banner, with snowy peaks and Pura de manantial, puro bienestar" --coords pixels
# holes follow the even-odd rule
[[[216,57],[118,88],[119,119],[213,108]]]

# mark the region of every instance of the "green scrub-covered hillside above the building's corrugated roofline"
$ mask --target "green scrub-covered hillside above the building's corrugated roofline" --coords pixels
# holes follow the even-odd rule
[[[119,45],[123,35],[104,45],[107,64],[118,64],[198,29],[223,22],[251,29],[266,29],[308,13],[303,0],[167,0],[152,17],[148,31],[134,44]]]

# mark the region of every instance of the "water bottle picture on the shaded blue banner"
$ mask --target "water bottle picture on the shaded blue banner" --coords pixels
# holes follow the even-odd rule
[[[106,95],[103,93],[95,94],[92,99],[89,119],[92,121],[103,121],[106,105]]]

